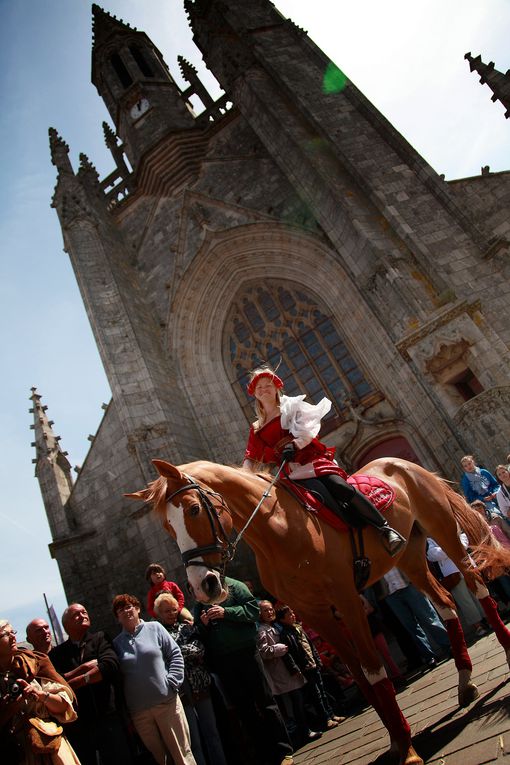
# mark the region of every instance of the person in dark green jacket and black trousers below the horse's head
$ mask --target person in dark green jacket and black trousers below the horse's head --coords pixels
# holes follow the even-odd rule
[[[257,649],[257,599],[237,579],[226,577],[225,584],[228,596],[223,603],[195,606],[206,660],[259,750],[259,761],[292,765],[292,745]]]

